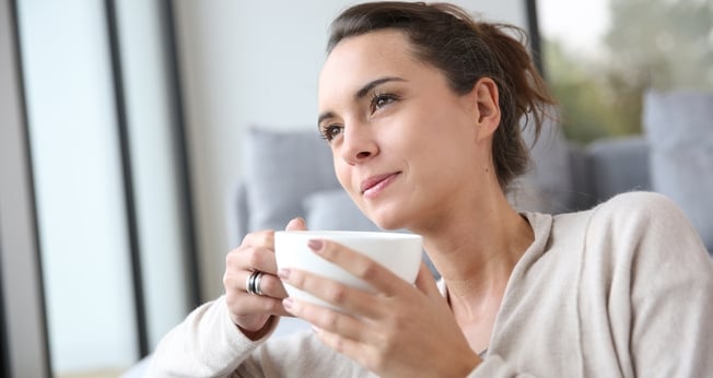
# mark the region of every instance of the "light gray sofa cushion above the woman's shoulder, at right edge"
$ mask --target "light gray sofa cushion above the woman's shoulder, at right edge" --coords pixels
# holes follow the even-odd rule
[[[644,130],[653,189],[674,200],[713,250],[713,93],[648,92]]]

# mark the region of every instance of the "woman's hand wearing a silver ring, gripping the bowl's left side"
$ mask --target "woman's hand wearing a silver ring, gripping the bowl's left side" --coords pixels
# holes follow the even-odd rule
[[[302,218],[288,223],[288,231],[305,229]],[[262,295],[248,294],[246,281],[255,271],[262,272]],[[237,249],[225,258],[225,303],[233,322],[252,340],[261,338],[271,316],[290,316],[282,307],[287,292],[278,279],[274,261],[274,232],[247,234]]]

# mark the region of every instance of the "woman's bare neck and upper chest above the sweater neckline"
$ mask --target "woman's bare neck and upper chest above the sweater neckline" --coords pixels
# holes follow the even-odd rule
[[[494,316],[513,268],[535,239],[529,223],[504,196],[487,209],[469,211],[452,213],[439,229],[422,234],[459,323]]]

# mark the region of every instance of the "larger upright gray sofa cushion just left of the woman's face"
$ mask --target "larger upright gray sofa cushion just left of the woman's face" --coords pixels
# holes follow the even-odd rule
[[[314,128],[250,128],[244,162],[250,231],[282,229],[292,217],[304,215],[302,201],[309,193],[340,188],[331,151]]]

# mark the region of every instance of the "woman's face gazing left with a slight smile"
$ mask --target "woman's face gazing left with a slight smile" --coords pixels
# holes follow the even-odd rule
[[[397,31],[346,38],[319,78],[319,130],[337,178],[387,229],[421,228],[472,201],[488,155],[475,95],[456,95],[409,47]]]

